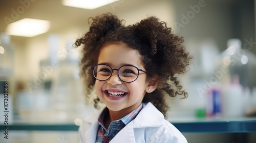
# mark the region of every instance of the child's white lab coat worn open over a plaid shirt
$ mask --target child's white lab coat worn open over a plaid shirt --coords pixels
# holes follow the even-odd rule
[[[95,143],[100,113],[87,117],[79,127],[80,142]],[[187,140],[178,129],[164,119],[163,114],[152,103],[147,103],[136,118],[119,131],[110,142],[185,143]]]

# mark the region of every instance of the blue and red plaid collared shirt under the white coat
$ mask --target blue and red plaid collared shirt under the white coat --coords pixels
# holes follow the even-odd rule
[[[108,116],[108,114],[109,114],[108,108],[105,108],[98,118],[99,128],[98,128],[98,134],[96,137],[96,143],[110,142],[110,140],[120,130],[122,130],[123,127],[125,127],[128,123],[130,123],[136,117],[136,115],[139,113],[139,111],[142,109],[142,107],[143,107],[143,104],[141,103],[140,106],[138,108],[134,109],[130,114],[127,114],[126,116],[122,117],[119,120],[111,122],[109,125],[109,129],[106,129],[103,124],[104,117]]]

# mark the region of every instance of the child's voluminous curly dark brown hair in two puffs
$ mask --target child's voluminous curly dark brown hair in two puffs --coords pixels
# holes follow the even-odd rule
[[[92,67],[97,64],[101,47],[120,42],[138,50],[147,71],[147,78],[158,77],[157,89],[146,93],[142,102],[151,102],[166,117],[169,108],[165,102],[166,95],[187,97],[187,92],[182,89],[175,75],[187,71],[192,57],[182,45],[183,37],[167,28],[166,22],[152,16],[125,27],[123,20],[111,13],[91,17],[90,20],[92,24],[89,32],[75,42],[76,46],[83,44],[80,75],[84,77],[87,85],[87,98],[95,85]],[[95,108],[98,108],[100,100],[97,98],[94,102]]]

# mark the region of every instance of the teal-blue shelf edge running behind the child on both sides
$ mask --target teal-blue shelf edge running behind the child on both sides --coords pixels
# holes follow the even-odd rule
[[[256,120],[171,122],[183,133],[251,133],[256,132]],[[5,125],[0,125],[1,130]],[[78,131],[79,126],[68,124],[13,124],[8,130],[18,131]]]

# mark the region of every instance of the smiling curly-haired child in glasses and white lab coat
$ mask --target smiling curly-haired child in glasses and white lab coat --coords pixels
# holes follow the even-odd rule
[[[187,97],[175,77],[191,60],[183,37],[154,16],[130,26],[111,13],[91,19],[75,44],[83,45],[87,97],[95,88],[94,106],[106,107],[84,120],[80,142],[187,142],[164,118],[165,96]]]

